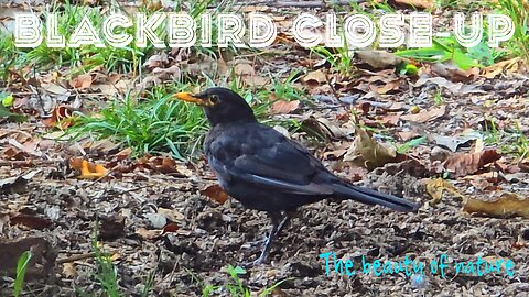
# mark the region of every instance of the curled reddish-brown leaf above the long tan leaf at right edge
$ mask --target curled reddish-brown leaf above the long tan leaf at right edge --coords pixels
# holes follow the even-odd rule
[[[474,154],[461,153],[452,155],[443,165],[444,168],[450,173],[453,173],[454,176],[465,176],[476,173],[483,168],[483,166],[498,161],[499,158],[501,158],[501,155],[496,148],[487,148]]]

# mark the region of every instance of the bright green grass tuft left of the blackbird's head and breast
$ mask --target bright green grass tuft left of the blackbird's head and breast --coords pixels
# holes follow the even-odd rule
[[[129,94],[122,101],[115,99],[99,116],[79,114],[68,132],[110,139],[131,147],[136,156],[170,152],[183,160],[202,143],[207,123],[199,107],[171,98],[180,90],[177,85],[168,85],[154,87],[145,98]]]

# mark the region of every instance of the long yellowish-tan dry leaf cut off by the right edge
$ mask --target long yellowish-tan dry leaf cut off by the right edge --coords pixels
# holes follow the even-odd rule
[[[522,198],[514,193],[504,193],[494,201],[468,198],[463,206],[463,210],[469,213],[477,212],[490,217],[517,215],[529,218],[529,199]]]

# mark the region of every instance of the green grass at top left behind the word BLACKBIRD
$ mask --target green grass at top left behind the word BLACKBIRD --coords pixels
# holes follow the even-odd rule
[[[179,1],[179,6],[174,12],[185,11],[192,15],[197,22],[197,31],[201,32],[199,15],[206,12],[206,9],[213,6],[215,0],[197,0],[197,1]],[[234,1],[222,1],[212,13],[212,47],[202,47],[198,43],[192,46],[192,51],[201,52],[207,55],[217,57],[218,54],[213,50],[216,46],[217,36],[217,23],[216,15],[231,9]],[[102,13],[101,7],[87,7],[73,4],[69,1],[65,3],[53,2],[47,11],[44,12],[44,18],[48,13],[55,13],[58,15],[57,31],[58,34],[65,36],[65,41],[69,40],[69,36],[79,24],[80,20],[87,15],[91,24],[96,30],[101,28],[105,16],[110,11],[120,11],[122,8],[119,4],[112,2],[111,8],[114,10],[107,10]],[[139,7],[138,12],[145,13],[147,16],[152,15],[158,11],[148,10],[144,7]],[[234,13],[234,11],[230,11]],[[123,12],[127,14],[126,12]],[[133,16],[132,14],[130,15]],[[121,30],[117,33],[128,33],[134,36],[136,22],[133,25]],[[162,23],[156,29],[156,35],[160,38],[166,41],[166,22]],[[46,22],[43,23],[43,36],[47,31]],[[119,31],[119,30],[118,30]],[[199,35],[199,34],[197,34]],[[197,36],[197,42],[199,36]],[[105,41],[104,41],[105,42]],[[0,78],[7,79],[9,70],[20,72],[23,67],[32,66],[37,70],[60,69],[61,67],[71,68],[67,73],[68,76],[73,76],[78,73],[89,72],[95,67],[102,67],[106,72],[118,73],[133,73],[139,69],[147,57],[154,53],[155,48],[149,42],[147,47],[138,47],[136,41],[132,41],[128,47],[116,48],[107,45],[106,47],[98,48],[95,45],[84,45],[78,48],[64,47],[54,48],[48,47],[44,41],[41,45],[34,48],[17,48],[14,46],[13,36],[10,33],[0,33]],[[229,46],[228,51],[236,53],[237,48]]]

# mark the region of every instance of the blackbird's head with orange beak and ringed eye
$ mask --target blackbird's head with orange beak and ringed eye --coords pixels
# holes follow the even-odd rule
[[[179,92],[174,97],[202,106],[212,125],[257,121],[246,100],[230,89],[209,88],[201,94]]]

